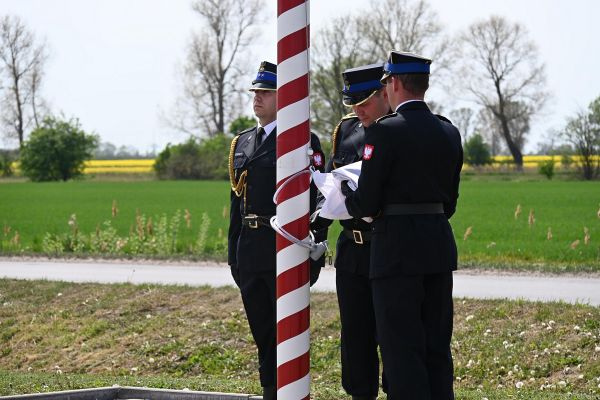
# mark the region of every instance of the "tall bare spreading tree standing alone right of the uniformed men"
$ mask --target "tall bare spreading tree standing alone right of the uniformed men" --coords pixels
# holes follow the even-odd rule
[[[502,138],[521,170],[529,121],[547,98],[544,64],[538,61],[537,48],[522,25],[498,16],[471,25],[461,41],[465,49],[461,83],[498,121]]]

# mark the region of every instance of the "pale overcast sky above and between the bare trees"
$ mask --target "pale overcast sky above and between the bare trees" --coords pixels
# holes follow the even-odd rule
[[[276,59],[277,2],[267,3],[272,23],[265,24],[257,40],[257,66]],[[535,151],[545,132],[560,129],[566,117],[600,96],[600,1],[429,3],[449,33],[492,14],[529,29],[546,64],[552,99],[533,124],[526,151]],[[367,6],[366,0],[313,0],[311,31],[331,16]],[[185,139],[161,123],[159,114],[171,108],[180,91],[178,71],[190,33],[199,29],[190,0],[0,0],[0,15],[6,14],[21,17],[49,44],[43,95],[52,111],[79,118],[86,131],[117,146],[160,150]]]

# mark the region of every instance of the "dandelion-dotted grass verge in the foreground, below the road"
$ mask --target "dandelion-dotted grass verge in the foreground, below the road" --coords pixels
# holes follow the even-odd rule
[[[16,280],[0,288],[0,395],[115,383],[260,392],[236,288]],[[313,397],[347,398],[335,294],[313,293],[311,314]],[[455,299],[454,326],[458,399],[600,394],[598,307]]]

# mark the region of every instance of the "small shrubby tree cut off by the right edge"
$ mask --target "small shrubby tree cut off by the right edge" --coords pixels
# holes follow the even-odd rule
[[[562,136],[581,158],[583,178],[591,180],[600,175],[600,97],[590,104],[589,111],[579,111],[567,121]]]

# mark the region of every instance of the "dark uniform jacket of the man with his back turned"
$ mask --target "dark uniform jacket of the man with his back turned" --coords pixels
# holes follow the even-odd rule
[[[358,190],[346,198],[353,216],[374,216],[371,278],[455,270],[448,219],[456,210],[461,138],[425,102],[409,102],[366,129]],[[383,215],[388,204],[436,203],[445,214]]]

